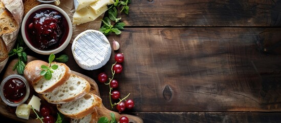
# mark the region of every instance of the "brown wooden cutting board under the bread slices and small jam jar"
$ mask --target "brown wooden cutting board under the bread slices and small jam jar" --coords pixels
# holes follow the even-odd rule
[[[32,56],[28,56],[28,62],[32,61],[32,60],[35,60],[35,59],[38,59],[38,58],[35,58],[35,57],[32,57]],[[13,71],[13,66],[15,65],[15,63],[17,62],[18,60],[17,59],[13,59],[11,60],[11,62],[9,63],[9,65],[7,66],[7,69],[4,73],[4,76],[3,78],[7,77],[8,75],[11,75],[11,74],[17,74],[16,70]],[[71,71],[71,73],[73,74],[76,74],[76,75],[79,75],[85,79],[87,79],[89,81],[89,83],[91,84],[91,90],[90,92],[100,96],[100,93],[99,93],[99,89],[98,89],[98,86],[95,82],[95,80],[93,80],[92,78],[88,77],[88,76],[85,76],[81,73],[78,73],[78,72],[75,72],[75,71]],[[2,78],[2,80],[3,80]],[[1,80],[1,81],[2,81]],[[38,97],[41,98],[41,106],[42,105],[45,105],[45,106],[49,106],[51,109],[52,109],[52,114],[54,116],[56,116],[55,114],[58,113],[58,110],[56,109],[56,105],[54,104],[50,104],[48,103],[42,96],[41,94],[38,94],[34,91],[34,89],[32,88],[31,86],[31,91],[30,91],[30,95],[29,95],[29,99],[32,97],[32,95],[36,95]],[[1,98],[0,98],[1,99]],[[29,102],[29,99],[25,102],[25,104],[28,104]],[[0,113],[1,115],[4,115],[4,116],[7,116],[11,119],[14,119],[14,120],[17,120],[17,121],[21,121],[21,122],[40,122],[40,120],[38,119],[35,119],[36,118],[36,115],[35,113],[31,110],[31,113],[30,113],[30,117],[29,117],[29,120],[26,120],[26,119],[21,119],[21,118],[18,118],[15,114],[15,111],[16,111],[16,107],[11,107],[11,106],[8,106],[6,105],[2,100],[0,102]],[[129,122],[140,122],[142,123],[143,120],[140,118],[140,117],[137,117],[137,116],[133,116],[133,115],[128,115],[128,114],[119,114],[118,112],[114,112],[114,111],[111,111],[109,109],[106,109],[103,105],[101,108],[98,108],[97,109],[97,112],[98,112],[98,117],[102,117],[102,116],[106,116],[108,117],[109,119],[111,119],[110,117],[110,112],[113,112],[115,114],[115,117],[117,119],[117,121],[119,120],[119,118],[121,116],[127,116],[129,118]],[[68,118],[67,118],[68,119]]]

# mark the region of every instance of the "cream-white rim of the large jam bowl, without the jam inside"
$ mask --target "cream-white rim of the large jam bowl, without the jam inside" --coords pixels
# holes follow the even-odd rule
[[[29,17],[30,14],[32,14],[34,11],[37,11],[41,8],[52,8],[52,9],[55,9],[57,11],[59,11],[63,16],[64,18],[66,18],[67,22],[68,22],[68,26],[69,26],[69,33],[67,35],[67,38],[66,40],[64,41],[64,43],[56,48],[56,49],[53,49],[53,50],[39,50],[35,47],[33,47],[29,41],[27,40],[26,38],[26,32],[25,32],[25,25],[26,25],[26,20],[27,18]],[[21,24],[21,37],[23,37],[24,39],[24,42],[25,44],[34,52],[36,53],[39,53],[39,54],[43,54],[43,55],[50,55],[50,54],[56,54],[56,53],[59,53],[60,51],[62,51],[63,49],[65,49],[68,44],[70,43],[70,40],[72,38],[72,23],[71,23],[71,20],[70,20],[70,17],[68,16],[68,14],[62,10],[61,8],[55,6],[55,5],[51,5],[51,4],[41,4],[41,5],[38,5],[38,6],[35,6],[34,8],[32,8],[29,12],[27,12],[27,14],[25,15],[24,19],[23,19],[23,23]]]

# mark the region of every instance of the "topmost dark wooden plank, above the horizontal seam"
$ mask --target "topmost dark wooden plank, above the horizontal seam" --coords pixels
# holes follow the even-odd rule
[[[137,0],[121,20],[130,27],[281,26],[280,12],[280,0]]]

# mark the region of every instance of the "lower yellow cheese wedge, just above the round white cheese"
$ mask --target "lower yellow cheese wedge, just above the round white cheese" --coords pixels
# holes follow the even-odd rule
[[[91,22],[98,18],[102,13],[104,13],[107,10],[107,7],[102,7],[100,9],[100,12],[96,14],[93,9],[91,9],[90,6],[87,6],[85,8],[82,8],[79,11],[75,11],[73,14],[73,20],[72,23],[76,25],[80,25],[83,23]]]

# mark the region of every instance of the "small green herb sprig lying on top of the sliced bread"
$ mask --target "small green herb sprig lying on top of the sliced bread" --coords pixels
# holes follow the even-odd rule
[[[55,55],[51,54],[49,56],[49,66],[41,65],[42,71],[40,72],[41,76],[44,76],[46,80],[50,80],[52,78],[53,70],[56,70],[58,68],[57,65],[51,65],[53,60],[55,59]]]

